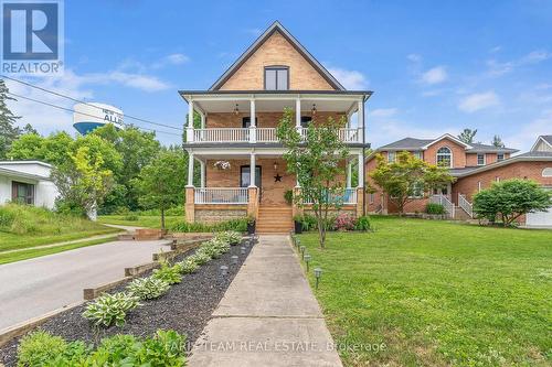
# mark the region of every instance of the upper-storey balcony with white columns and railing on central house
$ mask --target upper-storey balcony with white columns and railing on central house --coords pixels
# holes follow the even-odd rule
[[[185,145],[278,144],[276,127],[285,108],[295,111],[296,128],[305,136],[308,123],[328,118],[343,120],[341,141],[364,144],[365,91],[180,91],[188,101]],[[193,126],[192,116],[201,116]]]

